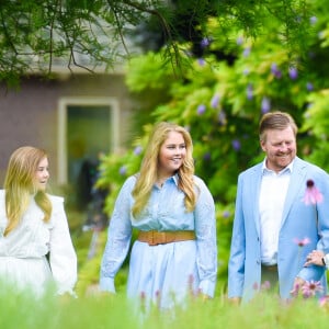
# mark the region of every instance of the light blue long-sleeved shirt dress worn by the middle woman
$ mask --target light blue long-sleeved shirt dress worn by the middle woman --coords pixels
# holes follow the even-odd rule
[[[132,215],[132,191],[136,177],[123,184],[110,220],[100,288],[115,292],[114,277],[127,257],[133,228],[138,230],[194,230],[196,239],[149,246],[136,240],[132,248],[127,283],[128,297],[169,308],[189,294],[214,296],[217,276],[215,205],[203,180],[194,175],[197,202],[193,212],[184,206],[178,175],[155,185],[150,200],[138,216]]]

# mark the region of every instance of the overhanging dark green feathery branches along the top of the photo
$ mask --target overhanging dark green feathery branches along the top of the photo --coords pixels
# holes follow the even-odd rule
[[[266,20],[279,22],[282,42],[296,55],[306,47],[308,13],[307,1],[296,0],[1,1],[0,81],[14,86],[26,73],[50,77],[58,61],[70,70],[106,70],[134,55],[136,46],[162,49],[163,61],[182,75],[181,44],[191,43],[190,52],[201,56],[209,18],[224,37],[231,27],[254,37],[268,31]]]

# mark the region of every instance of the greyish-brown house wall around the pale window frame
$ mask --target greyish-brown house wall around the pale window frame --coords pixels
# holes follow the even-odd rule
[[[49,155],[52,184],[58,182],[58,112],[63,98],[113,98],[120,107],[120,146],[129,139],[132,103],[123,75],[58,75],[52,80],[24,79],[18,90],[0,84],[0,186],[8,160],[23,145]]]

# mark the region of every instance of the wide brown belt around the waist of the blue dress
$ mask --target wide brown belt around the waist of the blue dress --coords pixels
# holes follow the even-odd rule
[[[149,246],[157,246],[170,242],[195,240],[195,232],[194,230],[139,230],[137,240],[147,242]]]

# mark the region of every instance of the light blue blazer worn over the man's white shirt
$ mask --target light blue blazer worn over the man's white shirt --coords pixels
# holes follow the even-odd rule
[[[250,299],[261,286],[261,246],[259,193],[262,163],[241,172],[238,178],[236,212],[228,264],[228,297]],[[303,197],[306,181],[313,180],[324,201],[306,205]],[[268,193],[271,193],[269,191]],[[295,239],[309,238],[310,243],[298,247]],[[304,268],[313,250],[329,252],[329,175],[322,169],[295,158],[284,205],[279,236],[277,268],[280,295],[290,298],[294,279],[319,281],[327,288],[325,266]]]

